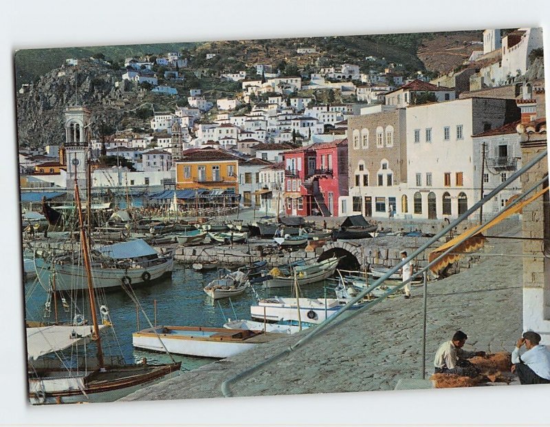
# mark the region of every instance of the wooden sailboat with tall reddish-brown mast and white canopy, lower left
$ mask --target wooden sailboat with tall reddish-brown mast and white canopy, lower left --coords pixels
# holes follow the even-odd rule
[[[62,404],[76,402],[112,402],[139,388],[179,375],[181,362],[171,364],[119,364],[104,356],[100,331],[111,327],[109,311],[100,307],[103,325],[98,322],[94,277],[91,274],[88,237],[83,224],[78,183],[75,198],[80,225],[80,248],[83,253],[87,278],[87,294],[91,311],[91,325],[81,314],[72,325],[39,325],[27,328],[29,399],[32,404]],[[55,286],[54,286],[55,289]],[[97,358],[84,363],[65,360],[61,351],[94,342]],[[55,355],[56,358],[44,358]],[[73,368],[73,369],[72,369]]]

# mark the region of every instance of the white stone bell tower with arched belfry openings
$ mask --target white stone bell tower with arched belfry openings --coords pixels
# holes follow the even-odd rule
[[[73,105],[65,110],[65,143],[63,159],[67,166],[67,188],[74,187],[74,179],[81,189],[87,184],[87,161],[90,152],[91,112],[82,105]],[[60,156],[61,157],[61,156]]]

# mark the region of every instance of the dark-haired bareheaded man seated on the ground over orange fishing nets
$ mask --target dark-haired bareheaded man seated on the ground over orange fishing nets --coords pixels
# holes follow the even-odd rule
[[[470,352],[462,349],[467,340],[463,331],[456,331],[450,341],[445,341],[435,353],[434,373],[454,373],[465,377],[476,377],[479,371],[467,359],[484,356],[484,351]]]

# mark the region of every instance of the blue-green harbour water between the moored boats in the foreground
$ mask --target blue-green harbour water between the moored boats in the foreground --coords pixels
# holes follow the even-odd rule
[[[190,265],[175,263],[171,276],[166,275],[156,281],[151,281],[148,285],[137,285],[133,287],[135,299],[139,301],[148,320],[155,324],[155,305],[156,305],[156,323],[157,325],[187,325],[202,327],[222,327],[228,318],[250,318],[250,305],[256,303],[256,295],[252,289],[248,288],[241,296],[236,296],[229,300],[212,300],[203,292],[206,286],[220,274],[227,270],[210,270],[206,272],[197,272]],[[334,281],[314,283],[305,285],[300,289],[300,296],[309,298],[334,298]],[[256,293],[261,297],[267,296],[294,296],[290,288],[263,289],[260,285],[254,287]],[[47,300],[47,292],[36,280],[30,280],[25,283],[25,301],[26,319],[53,322],[54,305],[51,304],[52,313],[50,318],[44,318],[44,307]],[[68,301],[69,296],[65,295]],[[140,329],[150,327],[145,314],[140,311],[139,324],[136,305],[133,298],[127,294],[124,289],[119,288],[98,295],[98,304],[105,304],[109,309],[109,316],[113,323],[112,333],[102,332],[109,340],[103,342],[111,343],[112,355],[122,356],[126,362],[138,362],[142,358],[147,358],[149,362],[168,363],[171,362],[169,355],[163,353],[153,353],[133,349],[132,333]],[[82,296],[76,298],[78,307],[85,307],[83,313],[85,318],[89,318],[87,313],[87,300],[83,301]],[[60,321],[70,321],[69,314],[63,311],[60,298],[58,298],[58,319]],[[91,323],[91,320],[89,321]],[[104,347],[109,344],[103,344]],[[109,349],[105,351],[109,354]],[[212,362],[208,358],[195,358],[182,355],[172,356],[176,361],[181,361],[182,369],[196,369],[203,364]]]

